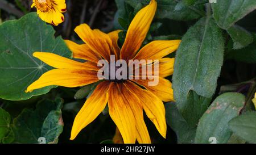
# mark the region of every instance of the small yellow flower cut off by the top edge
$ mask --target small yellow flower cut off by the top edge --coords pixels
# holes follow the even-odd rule
[[[31,7],[36,7],[39,17],[54,26],[64,22],[63,12],[67,11],[65,0],[33,0]]]

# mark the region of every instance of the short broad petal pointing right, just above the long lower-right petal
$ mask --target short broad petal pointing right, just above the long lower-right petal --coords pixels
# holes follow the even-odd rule
[[[145,87],[164,102],[174,101],[174,90],[172,90],[172,83],[167,79],[159,77],[159,83],[156,86],[148,85],[148,82],[152,81],[151,79],[133,79],[131,81]]]

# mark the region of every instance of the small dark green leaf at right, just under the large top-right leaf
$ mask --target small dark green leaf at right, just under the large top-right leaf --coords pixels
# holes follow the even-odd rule
[[[233,39],[233,49],[241,49],[253,43],[253,35],[240,26],[234,25],[227,31]]]

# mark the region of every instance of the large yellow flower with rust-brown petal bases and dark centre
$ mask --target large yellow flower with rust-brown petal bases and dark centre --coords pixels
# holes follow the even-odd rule
[[[151,143],[143,110],[155,124],[160,135],[166,137],[164,102],[174,100],[172,83],[164,77],[173,73],[174,58],[163,58],[176,51],[180,40],[152,41],[141,48],[156,11],[156,1],[144,7],[135,15],[127,31],[125,43],[118,47],[118,31],[108,34],[92,30],[87,24],[75,28],[75,32],[85,42],[76,44],[66,40],[74,58],[86,60],[77,62],[53,53],[35,52],[34,56],[57,69],[44,73],[28,86],[26,92],[50,85],[64,87],[85,86],[98,82],[96,89],[86,100],[73,123],[71,140],[104,110],[108,103],[109,115],[117,125],[124,143]],[[141,49],[140,49],[141,48]],[[140,50],[139,50],[140,49]],[[138,52],[139,51],[139,52]],[[159,60],[159,83],[149,86],[147,79],[100,80],[97,77],[99,60],[110,62],[110,55],[117,60]],[[154,64],[153,64],[154,65]]]

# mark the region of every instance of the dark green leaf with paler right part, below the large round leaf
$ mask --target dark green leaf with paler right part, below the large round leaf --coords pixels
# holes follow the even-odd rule
[[[46,143],[57,143],[63,131],[61,99],[43,100],[36,105],[35,111],[24,109],[13,121],[13,143],[34,144],[40,139]]]

